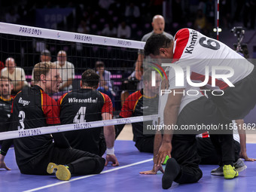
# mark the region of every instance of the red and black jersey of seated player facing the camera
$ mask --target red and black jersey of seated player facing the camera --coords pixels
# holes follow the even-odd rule
[[[143,90],[138,90],[135,93],[128,96],[123,103],[123,107],[119,116],[126,117],[138,117],[146,116],[158,113],[158,96],[150,98],[143,95]],[[147,125],[152,125],[152,120],[133,123],[133,141],[137,142],[144,137],[152,137],[154,134],[151,130],[147,130]],[[144,131],[143,131],[144,130]]]

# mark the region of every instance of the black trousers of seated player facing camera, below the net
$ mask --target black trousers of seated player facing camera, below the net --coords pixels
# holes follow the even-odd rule
[[[136,141],[135,146],[141,152],[153,153],[154,152],[154,136],[138,139]]]

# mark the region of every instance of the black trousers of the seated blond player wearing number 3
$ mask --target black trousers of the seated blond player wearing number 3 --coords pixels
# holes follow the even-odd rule
[[[98,174],[105,166],[105,159],[96,154],[53,146],[41,156],[19,166],[19,169],[23,174],[47,175],[47,165],[51,162],[69,166],[70,172],[75,175]]]

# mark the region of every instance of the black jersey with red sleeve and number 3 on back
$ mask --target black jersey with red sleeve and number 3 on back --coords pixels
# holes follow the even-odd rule
[[[34,86],[17,93],[12,106],[12,129],[20,130],[20,135],[29,136],[14,139],[18,166],[28,163],[53,146],[50,134],[32,136],[29,129],[59,124],[59,108],[41,87]]]

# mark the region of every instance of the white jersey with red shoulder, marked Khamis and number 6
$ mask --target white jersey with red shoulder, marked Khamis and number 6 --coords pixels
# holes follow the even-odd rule
[[[193,82],[204,82],[206,66],[209,69],[209,81],[212,86],[212,75],[230,75],[227,81],[235,84],[249,75],[254,69],[239,53],[227,45],[212,38],[208,38],[194,29],[181,29],[175,35],[173,47],[173,63],[181,66],[184,72],[189,69],[190,79]],[[227,70],[224,69],[227,67]],[[233,70],[232,70],[233,69]],[[233,71],[233,75],[232,75]],[[208,75],[207,75],[208,76]],[[215,76],[217,77],[217,76]],[[212,89],[225,90],[229,85],[223,78],[216,78]]]

